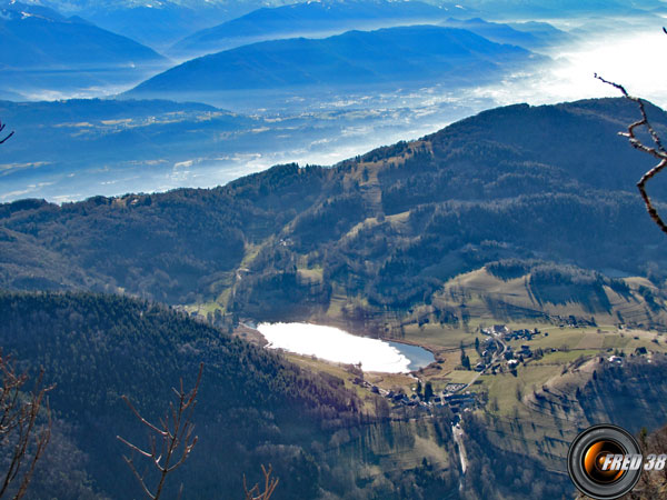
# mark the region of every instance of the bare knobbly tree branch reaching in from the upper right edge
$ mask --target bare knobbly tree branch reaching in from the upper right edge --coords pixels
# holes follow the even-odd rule
[[[667,30],[665,30],[665,28],[663,28],[663,30],[667,33]],[[650,197],[648,196],[648,192],[646,192],[646,183],[667,166],[667,150],[665,150],[665,147],[663,146],[660,136],[656,132],[651,122],[648,120],[644,100],[641,100],[637,97],[630,96],[627,92],[627,90],[625,89],[625,87],[623,87],[619,83],[615,83],[613,81],[605,80],[603,77],[598,76],[597,73],[595,73],[595,78],[597,78],[598,80],[600,80],[604,83],[607,83],[607,84],[620,90],[620,92],[623,93],[623,96],[626,99],[629,99],[630,101],[636,102],[637,107],[639,108],[639,113],[641,116],[641,120],[630,123],[628,126],[628,131],[619,132],[619,136],[627,137],[628,141],[630,142],[633,148],[638,149],[639,151],[643,151],[647,154],[650,154],[651,157],[656,158],[659,161],[658,164],[656,164],[653,169],[648,170],[646,173],[644,173],[644,176],[641,176],[641,179],[639,179],[639,182],[637,182],[637,188],[639,189],[639,193],[641,194],[641,199],[644,200],[644,204],[646,206],[646,210],[648,211],[649,217],[658,226],[658,228],[660,228],[663,230],[663,232],[667,233],[667,224],[665,224],[665,222],[663,221],[663,218],[659,216],[658,211],[654,207],[653,201],[651,201]],[[654,142],[653,147],[645,144],[641,141],[641,139],[637,138],[637,136],[635,134],[635,130],[638,128],[646,129],[646,131],[648,132],[648,134],[650,136],[650,138]]]

